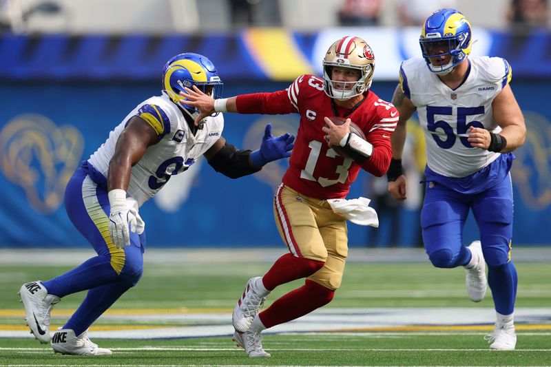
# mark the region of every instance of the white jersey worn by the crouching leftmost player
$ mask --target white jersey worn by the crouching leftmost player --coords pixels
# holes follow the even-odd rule
[[[127,193],[140,206],[152,198],[172,175],[185,171],[205,154],[222,136],[224,128],[224,118],[222,114],[218,114],[207,117],[203,128],[198,129],[196,134],[191,134],[184,112],[167,96],[163,94],[149,98],[136,106],[88,159],[105,178],[118,136],[133,116],[143,118],[158,136],[158,143],[148,147],[142,158],[132,167]]]

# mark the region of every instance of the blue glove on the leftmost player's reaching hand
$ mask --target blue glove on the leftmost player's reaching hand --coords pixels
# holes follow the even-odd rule
[[[266,125],[260,149],[256,149],[251,153],[251,164],[254,167],[261,168],[272,160],[290,157],[291,150],[295,146],[294,141],[295,136],[288,132],[274,138],[271,134],[271,124]]]

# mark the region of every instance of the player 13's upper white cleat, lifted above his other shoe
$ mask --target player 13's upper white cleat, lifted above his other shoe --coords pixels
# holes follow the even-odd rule
[[[245,331],[249,330],[253,319],[260,312],[260,308],[264,306],[266,297],[263,297],[254,286],[255,282],[261,279],[262,277],[251,277],[249,279],[243,295],[233,308],[231,323],[233,324],[233,328],[240,333],[245,333]]]

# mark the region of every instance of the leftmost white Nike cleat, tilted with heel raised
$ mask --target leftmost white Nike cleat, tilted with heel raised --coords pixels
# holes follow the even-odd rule
[[[50,313],[54,305],[60,301],[59,297],[49,295],[40,280],[23,284],[19,289],[19,296],[25,306],[25,319],[30,332],[39,342],[48,344],[50,342]]]

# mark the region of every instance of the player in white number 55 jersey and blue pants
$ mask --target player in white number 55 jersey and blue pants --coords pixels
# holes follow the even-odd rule
[[[437,10],[426,19],[419,39],[423,58],[402,63],[393,96],[400,117],[391,137],[388,191],[397,200],[406,198],[401,159],[406,121],[417,110],[426,138],[426,253],[439,268],[464,266],[474,302],[484,298],[488,282],[497,313],[487,337],[490,349],[512,350],[517,271],[510,252],[510,152],[524,143],[526,127],[509,85],[510,65],[499,57],[470,57],[471,40],[470,23],[457,10]],[[464,247],[469,210],[481,238]]]

